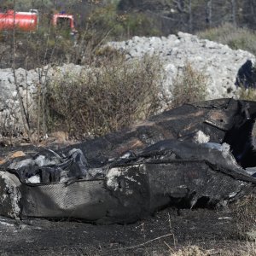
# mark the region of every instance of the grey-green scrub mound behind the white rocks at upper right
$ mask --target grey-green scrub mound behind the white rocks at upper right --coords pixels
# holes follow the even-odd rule
[[[200,38],[227,44],[232,49],[244,49],[256,55],[256,33],[247,28],[226,23],[223,26],[207,29],[198,35]]]

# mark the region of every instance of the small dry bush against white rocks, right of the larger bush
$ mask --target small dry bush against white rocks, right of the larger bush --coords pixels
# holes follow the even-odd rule
[[[177,77],[172,81],[172,107],[204,101],[207,96],[207,82],[205,73],[186,62],[183,70],[177,73]]]

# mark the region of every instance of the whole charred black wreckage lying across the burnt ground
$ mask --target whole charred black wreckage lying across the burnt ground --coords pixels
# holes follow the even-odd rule
[[[253,193],[256,102],[185,104],[125,131],[0,166],[0,214],[129,223]]]

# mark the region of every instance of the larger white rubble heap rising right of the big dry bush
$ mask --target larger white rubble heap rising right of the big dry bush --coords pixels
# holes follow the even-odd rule
[[[247,51],[230,49],[195,35],[178,32],[167,38],[134,37],[124,42],[110,42],[108,46],[125,50],[128,58],[141,58],[145,54],[159,55],[166,71],[165,89],[172,87],[172,79],[189,61],[192,67],[208,77],[208,99],[236,96],[236,75],[239,68],[255,56]]]

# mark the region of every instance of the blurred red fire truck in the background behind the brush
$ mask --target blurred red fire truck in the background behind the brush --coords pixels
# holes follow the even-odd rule
[[[38,10],[31,9],[28,12],[15,12],[8,10],[0,13],[0,31],[12,30],[14,27],[20,31],[34,32],[38,29],[39,15]],[[52,16],[53,26],[70,29],[76,32],[73,15],[64,12]]]

